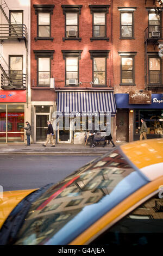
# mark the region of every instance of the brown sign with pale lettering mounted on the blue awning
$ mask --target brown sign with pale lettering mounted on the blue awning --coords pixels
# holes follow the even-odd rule
[[[152,103],[152,91],[129,92],[129,104],[151,104],[151,103]]]

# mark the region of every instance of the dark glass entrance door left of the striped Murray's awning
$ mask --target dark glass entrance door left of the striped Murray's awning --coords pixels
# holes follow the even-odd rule
[[[36,142],[46,141],[49,114],[36,115]]]

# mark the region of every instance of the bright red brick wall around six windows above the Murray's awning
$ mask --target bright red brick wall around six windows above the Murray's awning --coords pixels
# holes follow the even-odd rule
[[[55,4],[53,15],[51,16],[52,30],[51,36],[54,37],[52,41],[34,41],[37,31],[37,15],[33,4]],[[61,8],[61,4],[82,4],[81,14],[79,15],[79,36],[82,41],[62,41],[65,36],[65,15]],[[109,58],[107,59],[107,86],[109,87],[109,80],[113,86],[112,74],[112,47],[111,47],[111,7],[109,14],[107,14],[107,36],[108,41],[90,41],[92,37],[92,15],[90,12],[90,4],[110,4],[110,1],[51,1],[51,0],[32,0],[31,1],[31,84],[36,86],[36,60],[33,50],[55,50],[54,59],[52,60],[52,75],[55,77],[55,87],[65,86],[65,60],[63,59],[61,50],[83,50],[81,59],[79,60],[79,81],[82,81],[81,87],[91,87],[92,81],[92,60],[90,58],[89,50],[110,50]]]

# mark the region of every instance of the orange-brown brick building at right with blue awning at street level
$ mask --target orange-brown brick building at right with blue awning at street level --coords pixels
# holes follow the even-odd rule
[[[145,118],[147,138],[162,136],[162,5],[160,1],[113,1],[112,45],[117,106],[116,139],[139,139]],[[144,97],[151,92],[147,104]],[[129,102],[130,95],[138,102]],[[140,101],[141,98],[141,101]]]

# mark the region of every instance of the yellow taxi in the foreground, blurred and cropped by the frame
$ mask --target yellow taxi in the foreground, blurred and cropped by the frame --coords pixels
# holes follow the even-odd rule
[[[4,192],[0,203],[0,245],[157,246],[163,139],[124,144],[58,184]]]

